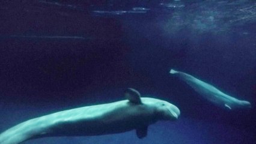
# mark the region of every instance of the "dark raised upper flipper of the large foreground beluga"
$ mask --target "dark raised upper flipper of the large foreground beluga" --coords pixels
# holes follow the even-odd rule
[[[136,89],[127,88],[126,91],[124,91],[124,95],[131,103],[141,104],[141,94],[139,94]]]

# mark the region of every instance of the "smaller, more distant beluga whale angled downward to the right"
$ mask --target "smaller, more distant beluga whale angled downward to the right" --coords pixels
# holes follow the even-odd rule
[[[217,106],[225,107],[230,110],[251,107],[251,103],[249,103],[249,101],[238,100],[237,98],[231,97],[230,95],[219,91],[219,89],[215,88],[215,86],[203,82],[202,80],[199,80],[187,73],[173,69],[171,69],[169,73],[179,77],[181,80],[186,82],[187,85],[191,86],[195,91],[197,91],[202,97],[206,98]]]

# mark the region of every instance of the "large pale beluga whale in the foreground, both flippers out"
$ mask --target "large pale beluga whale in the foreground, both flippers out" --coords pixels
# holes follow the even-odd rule
[[[30,139],[58,136],[97,136],[136,130],[147,136],[148,125],[159,120],[174,121],[180,110],[167,101],[141,97],[126,89],[127,100],[64,110],[22,122],[0,134],[1,144],[18,144]]]

